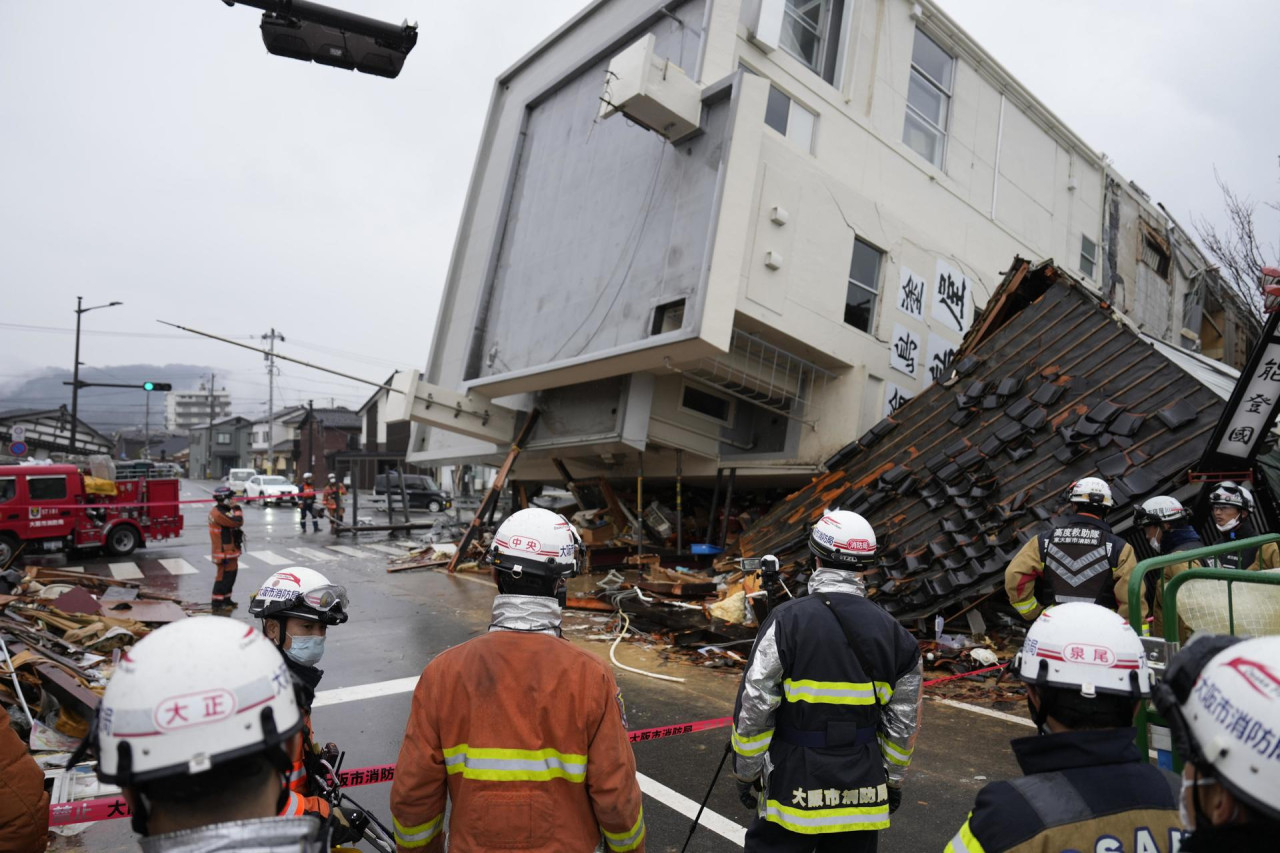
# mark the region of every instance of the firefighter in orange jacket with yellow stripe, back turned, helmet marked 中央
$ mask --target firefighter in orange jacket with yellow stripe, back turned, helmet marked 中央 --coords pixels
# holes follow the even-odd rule
[[[561,638],[577,532],[531,507],[498,528],[489,633],[438,656],[413,692],[392,785],[401,853],[644,850],[643,797],[622,694]],[[445,804],[452,806],[448,826]]]

